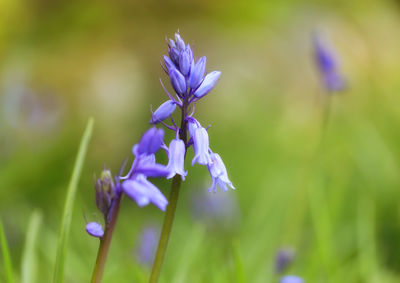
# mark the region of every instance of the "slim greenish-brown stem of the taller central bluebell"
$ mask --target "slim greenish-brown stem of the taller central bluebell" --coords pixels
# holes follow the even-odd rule
[[[182,105],[182,120],[179,129],[179,138],[183,140],[187,148],[187,133],[186,133],[186,115],[188,108],[188,101],[185,99]],[[186,152],[185,152],[186,156]],[[172,179],[171,192],[169,195],[169,203],[167,211],[165,212],[164,223],[161,231],[160,241],[158,243],[156,258],[154,260],[153,268],[150,274],[150,283],[156,283],[160,277],[162,264],[164,262],[165,253],[167,251],[169,237],[171,235],[172,224],[175,218],[176,206],[179,198],[179,190],[181,187],[182,179],[180,175],[175,175]]]

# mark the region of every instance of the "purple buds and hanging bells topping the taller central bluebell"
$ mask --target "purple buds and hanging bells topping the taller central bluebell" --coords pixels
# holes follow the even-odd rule
[[[167,178],[172,178],[176,174],[185,179],[187,172],[184,169],[184,157],[186,150],[193,146],[194,158],[192,165],[198,163],[207,166],[212,185],[210,191],[216,191],[217,186],[227,191],[228,186],[234,189],[221,157],[213,153],[209,146],[207,129],[193,117],[194,107],[198,100],[206,96],[217,83],[221,72],[213,71],[205,75],[206,57],[196,59],[192,48],[185,44],[179,33],[175,34],[175,40],[168,41],[168,55],[163,56],[163,69],[167,73],[175,95],[171,95],[164,87],[169,96],[169,100],[152,113],[150,123],[162,123],[165,127],[176,132],[176,138],[171,141],[169,146],[164,146],[168,153],[168,169],[170,173]],[[176,108],[182,111],[183,128],[178,128],[172,118]],[[192,111],[189,114],[189,107]],[[171,125],[164,121],[170,118]],[[187,140],[186,133],[189,133]]]

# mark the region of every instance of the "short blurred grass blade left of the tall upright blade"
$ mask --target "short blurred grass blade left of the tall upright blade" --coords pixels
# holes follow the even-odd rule
[[[34,211],[30,217],[28,230],[26,232],[21,268],[22,283],[33,283],[36,279],[35,246],[41,221],[42,214],[39,211]]]

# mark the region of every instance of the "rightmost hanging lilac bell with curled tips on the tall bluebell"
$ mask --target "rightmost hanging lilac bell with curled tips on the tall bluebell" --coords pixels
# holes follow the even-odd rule
[[[226,167],[221,157],[217,153],[210,153],[211,162],[207,164],[208,171],[210,172],[212,178],[211,187],[208,189],[209,192],[217,191],[217,185],[223,190],[227,191],[228,187],[235,189],[232,182],[228,178],[228,173]]]

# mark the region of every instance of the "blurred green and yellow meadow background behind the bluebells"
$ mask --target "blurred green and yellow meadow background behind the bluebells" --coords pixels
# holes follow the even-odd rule
[[[90,280],[98,240],[85,217],[101,219],[94,175],[131,158],[150,105],[166,99],[160,60],[178,29],[207,56],[208,71],[222,72],[196,115],[212,125],[211,147],[237,190],[207,194],[207,170],[187,162],[161,282],[278,282],[282,274],[400,282],[394,0],[0,1],[0,215],[15,273],[39,211],[32,279],[52,279],[68,180],[93,116],[65,274],[65,282]],[[314,30],[331,42],[348,82],[329,97],[325,130]],[[168,181],[155,183],[168,195]],[[154,206],[124,199],[104,282],[146,282],[137,246],[162,219]],[[277,274],[280,249],[295,259]],[[0,280],[3,271],[0,261]]]

